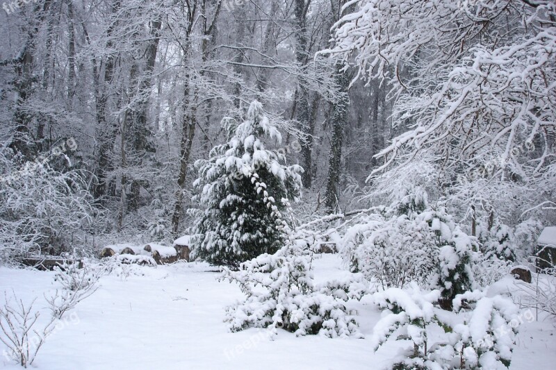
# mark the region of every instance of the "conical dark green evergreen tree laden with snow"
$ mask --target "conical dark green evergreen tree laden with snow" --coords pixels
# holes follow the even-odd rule
[[[303,169],[284,165],[284,155],[266,150],[262,137],[281,142],[261,103],[253,101],[229,142],[195,162],[200,214],[193,226],[194,258],[238,267],[284,245],[281,211],[288,199],[298,200]]]

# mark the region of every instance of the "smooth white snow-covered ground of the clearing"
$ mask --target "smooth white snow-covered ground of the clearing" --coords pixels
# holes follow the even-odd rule
[[[337,255],[313,262],[316,279],[347,274]],[[284,330],[274,341],[266,330],[229,333],[224,308],[242,294],[219,283],[215,267],[203,263],[137,267],[142,276],[104,276],[101,287],[68,312],[47,338],[33,367],[38,369],[380,369],[395,348],[373,353],[370,335],[379,319],[363,298],[354,303],[365,339],[295,337]],[[44,295],[54,293],[54,273],[0,268],[0,292],[12,289],[24,302],[38,297],[42,319],[49,312]],[[0,303],[5,298],[1,296]],[[0,344],[0,354],[6,347]],[[555,323],[523,323],[512,370],[554,369]],[[0,357],[0,367],[19,369]]]

